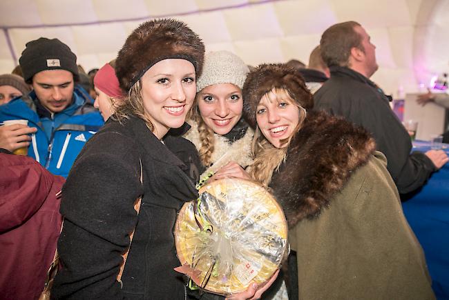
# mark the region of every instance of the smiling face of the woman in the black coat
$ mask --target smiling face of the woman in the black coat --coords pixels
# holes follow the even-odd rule
[[[170,128],[180,128],[195,99],[195,68],[185,59],[164,59],[142,76],[145,114],[154,134],[162,139]]]

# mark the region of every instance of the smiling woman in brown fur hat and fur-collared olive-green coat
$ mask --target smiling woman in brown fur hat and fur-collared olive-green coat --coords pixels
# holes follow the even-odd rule
[[[370,134],[310,110],[312,95],[285,64],[249,73],[243,99],[256,128],[249,173],[285,210],[298,298],[434,299],[423,250]]]

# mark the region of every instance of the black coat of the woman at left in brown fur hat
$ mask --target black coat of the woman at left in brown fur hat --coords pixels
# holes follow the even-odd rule
[[[170,147],[184,149],[187,165]],[[169,136],[164,146],[141,119],[123,125],[110,119],[79,154],[62,192],[65,221],[58,251],[63,268],[52,297],[185,299],[182,276],[173,270],[180,265],[173,227],[184,202],[198,197],[196,178],[189,177],[198,176],[191,170],[194,161],[198,156],[189,141]],[[141,194],[137,217],[133,204]],[[134,228],[120,288],[121,254]]]

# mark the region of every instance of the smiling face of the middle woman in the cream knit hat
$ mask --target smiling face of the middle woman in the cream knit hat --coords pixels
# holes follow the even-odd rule
[[[216,134],[227,134],[242,117],[242,90],[232,83],[207,86],[197,99],[204,123]]]

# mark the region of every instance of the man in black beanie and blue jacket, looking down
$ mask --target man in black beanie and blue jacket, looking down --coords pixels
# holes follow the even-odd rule
[[[84,143],[103,124],[88,94],[75,86],[77,57],[59,39],[41,37],[26,43],[19,64],[33,90],[1,106],[0,122],[22,119],[29,127],[2,126],[0,143],[10,151],[29,146],[30,157],[67,177]]]

